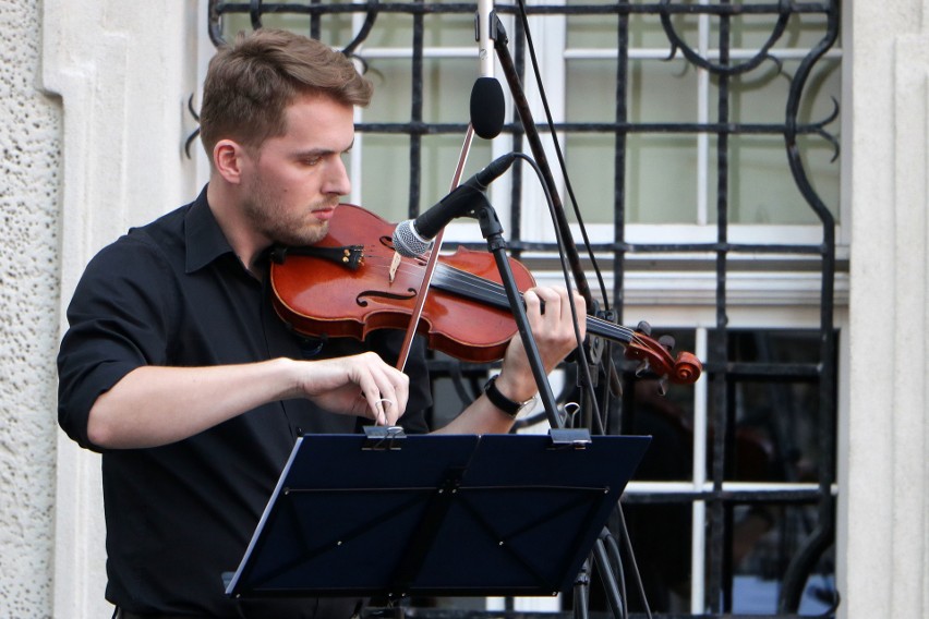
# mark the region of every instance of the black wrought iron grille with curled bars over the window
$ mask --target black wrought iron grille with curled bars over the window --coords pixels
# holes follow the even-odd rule
[[[412,97],[409,119],[396,123],[365,123],[357,126],[362,134],[401,135],[409,138],[409,207],[410,217],[418,215],[421,204],[421,184],[423,174],[422,139],[427,135],[461,135],[467,129],[467,119],[457,123],[431,123],[424,120],[423,113],[423,60],[424,60],[424,24],[432,16],[441,14],[473,14],[474,3],[427,2],[414,0],[410,2],[209,2],[209,36],[216,45],[224,43],[224,21],[232,15],[248,15],[251,27],[260,28],[270,15],[303,15],[307,17],[307,34],[319,38],[323,32],[322,23],[327,15],[360,14],[364,15],[361,27],[353,34],[350,41],[330,41],[341,47],[346,53],[354,54],[364,60],[363,44],[374,28],[378,27],[378,16],[383,14],[401,14],[409,16],[411,22],[410,47],[412,54],[409,59],[409,71],[412,76]],[[715,274],[715,326],[710,329],[708,355],[704,360],[704,373],[709,380],[709,424],[712,428],[708,451],[708,485],[703,488],[681,488],[677,491],[640,491],[627,494],[624,503],[634,512],[642,508],[630,520],[638,520],[638,526],[648,523],[657,514],[657,521],[674,523],[675,520],[664,519],[662,510],[672,507],[685,507],[686,510],[695,502],[707,506],[707,569],[703,585],[704,607],[701,612],[688,615],[671,607],[656,608],[666,617],[698,617],[719,616],[733,611],[734,566],[733,547],[735,513],[739,510],[751,511],[755,506],[774,505],[785,511],[801,511],[799,519],[805,526],[794,531],[795,539],[789,543],[781,539],[782,553],[780,563],[773,568],[774,576],[780,581],[780,593],[776,612],[780,617],[794,616],[799,608],[800,597],[808,578],[815,573],[829,573],[828,555],[834,544],[834,508],[835,508],[835,410],[836,410],[836,338],[833,325],[834,287],[836,276],[836,221],[833,208],[824,203],[815,189],[805,166],[804,156],[798,142],[804,138],[818,138],[831,144],[837,157],[838,139],[829,128],[836,121],[838,105],[834,112],[825,119],[813,122],[801,120],[801,104],[809,87],[813,69],[822,58],[833,50],[838,37],[840,5],[837,0],[798,2],[789,0],[771,0],[768,2],[729,2],[720,1],[679,1],[655,0],[628,2],[570,2],[568,4],[532,4],[522,7],[514,3],[497,3],[498,14],[519,15],[521,10],[528,15],[559,15],[567,20],[576,16],[602,16],[615,24],[616,36],[616,74],[615,74],[615,120],[613,122],[576,122],[557,123],[559,132],[574,134],[602,134],[615,137],[614,156],[614,194],[613,194],[613,229],[611,242],[594,244],[598,254],[611,257],[614,272],[613,288],[610,291],[610,303],[614,307],[615,319],[623,320],[625,302],[625,275],[628,272],[630,257],[642,255],[687,256],[693,254],[711,256],[710,265]],[[713,23],[716,54],[713,58],[704,56],[691,46],[677,31],[675,17],[678,15],[703,15]],[[770,24],[770,34],[761,45],[749,54],[734,56],[733,22],[751,15],[765,20]],[[636,122],[630,120],[628,99],[630,84],[630,19],[647,17],[661,24],[666,36],[665,45],[668,58],[685,58],[691,66],[709,72],[715,81],[715,119],[710,122],[696,122],[684,119],[679,122]],[[780,66],[775,47],[782,41],[787,24],[800,16],[815,16],[821,27],[812,45],[807,46],[798,57],[797,68],[787,73]],[[522,21],[515,21],[515,32],[509,33],[509,46],[512,50],[516,70],[524,78],[529,51],[527,49],[527,33]],[[784,104],[783,119],[779,122],[751,123],[737,122],[732,119],[733,81],[740,76],[751,75],[762,63],[774,62],[783,76],[788,80],[789,88]],[[837,94],[836,94],[837,97]],[[519,118],[512,118],[504,128],[504,133],[514,138],[516,150],[523,147],[524,128]],[[635,243],[627,240],[627,158],[629,148],[627,139],[631,135],[707,135],[714,141],[715,146],[715,240],[713,242],[693,243]],[[738,173],[731,159],[731,142],[738,136],[781,136],[784,143],[784,155],[789,169],[789,178],[784,182],[793,182],[801,194],[809,210],[819,221],[822,236],[819,243],[737,243],[729,241],[731,228],[731,195],[729,186],[733,175]],[[520,238],[520,204],[522,183],[518,171],[514,172],[512,210],[509,222],[509,244],[512,252],[534,253],[555,252],[551,243],[528,242]],[[812,260],[821,275],[819,290],[819,325],[815,330],[787,333],[787,339],[806,342],[810,354],[805,357],[796,355],[777,355],[770,349],[776,342],[764,333],[739,330],[729,327],[729,290],[732,264],[738,256],[787,256],[804,257]],[[770,268],[777,268],[777,260],[771,260]],[[762,267],[763,268],[763,267]],[[692,341],[692,333],[681,330],[683,339]],[[751,349],[750,353],[746,351]],[[648,404],[647,399],[637,396],[635,368],[630,367],[622,356],[616,355],[615,362],[624,369],[625,390],[618,401],[613,399],[606,410],[607,432],[635,432],[641,429],[637,424],[640,414]],[[486,365],[466,365],[457,361],[437,355],[431,360],[434,380],[450,380],[450,385],[462,400],[469,400],[478,392],[479,380],[486,375]],[[736,437],[736,410],[740,398],[738,387],[747,383],[762,386],[805,385],[806,397],[812,401],[809,411],[812,420],[805,420],[810,426],[810,433],[818,444],[816,462],[811,464],[815,484],[797,487],[783,485],[775,488],[751,488],[727,484],[733,480],[734,462],[739,457]],[[566,390],[562,400],[570,397]],[[605,395],[604,400],[610,400]],[[789,402],[782,403],[789,408]],[[796,412],[783,411],[793,415],[794,423],[801,423]],[[789,429],[789,428],[788,428]],[[783,424],[781,439],[784,438]],[[774,433],[776,435],[776,433]],[[744,456],[744,453],[741,454]],[[788,475],[789,477],[789,475]],[[685,519],[686,521],[687,519]],[[681,521],[677,521],[679,524]],[[632,537],[636,526],[632,524]],[[789,547],[785,553],[784,547]],[[825,567],[823,568],[823,565]],[[628,575],[628,574],[627,574]],[[631,584],[631,581],[630,581]],[[828,592],[830,604],[837,604],[837,594]],[[634,610],[642,610],[634,604],[635,594],[629,594],[629,603]],[[648,611],[646,608],[644,610]],[[829,614],[830,611],[827,611]],[[415,615],[415,610],[412,611]],[[770,615],[769,615],[770,616]]]

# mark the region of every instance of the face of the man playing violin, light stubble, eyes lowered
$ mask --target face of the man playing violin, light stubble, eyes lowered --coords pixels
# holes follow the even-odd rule
[[[304,96],[285,113],[287,132],[246,157],[244,215],[270,242],[312,245],[326,235],[336,205],[351,191],[342,155],[354,141],[353,110]]]

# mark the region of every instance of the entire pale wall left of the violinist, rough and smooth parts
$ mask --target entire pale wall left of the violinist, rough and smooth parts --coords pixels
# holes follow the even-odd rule
[[[99,457],[57,427],[89,257],[196,191],[203,0],[0,0],[0,617],[108,617]]]

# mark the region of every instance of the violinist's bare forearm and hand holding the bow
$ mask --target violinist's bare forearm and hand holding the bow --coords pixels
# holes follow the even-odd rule
[[[214,367],[142,366],[100,395],[87,436],[104,449],[157,447],[277,400],[310,398],[336,413],[394,424],[409,380],[374,353]]]

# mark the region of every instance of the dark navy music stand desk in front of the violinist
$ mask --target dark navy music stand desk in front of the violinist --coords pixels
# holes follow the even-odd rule
[[[556,595],[651,440],[580,434],[303,436],[226,593]]]

